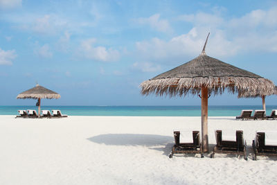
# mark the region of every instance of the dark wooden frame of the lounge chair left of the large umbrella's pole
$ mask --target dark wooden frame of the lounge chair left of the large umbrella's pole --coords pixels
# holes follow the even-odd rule
[[[180,143],[180,131],[174,131],[175,145],[172,147],[172,151],[169,158],[172,158],[174,154],[200,154],[201,158],[204,157],[202,152],[202,143],[200,142],[199,131],[193,132],[193,143]]]

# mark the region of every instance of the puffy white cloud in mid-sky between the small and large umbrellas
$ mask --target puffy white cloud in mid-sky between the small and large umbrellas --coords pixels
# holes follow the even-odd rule
[[[116,61],[120,58],[120,53],[115,49],[107,49],[104,46],[93,46],[95,38],[85,39],[80,44],[80,54],[84,58],[103,62]]]

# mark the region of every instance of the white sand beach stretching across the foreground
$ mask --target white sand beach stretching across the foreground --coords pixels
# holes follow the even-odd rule
[[[277,184],[275,157],[253,161],[256,130],[277,121],[209,117],[215,129],[244,130],[248,161],[235,155],[168,157],[173,130],[201,131],[200,117],[0,116],[0,184]]]

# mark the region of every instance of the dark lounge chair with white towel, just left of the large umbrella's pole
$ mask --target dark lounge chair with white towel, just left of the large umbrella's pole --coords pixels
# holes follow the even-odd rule
[[[199,131],[174,131],[175,145],[169,155],[170,158],[174,154],[202,154],[202,147],[200,143]]]

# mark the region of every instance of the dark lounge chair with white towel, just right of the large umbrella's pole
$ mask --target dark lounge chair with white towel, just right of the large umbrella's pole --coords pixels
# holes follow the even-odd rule
[[[216,146],[213,148],[211,158],[215,153],[243,155],[247,160],[247,142],[243,138],[242,130],[215,130]]]

